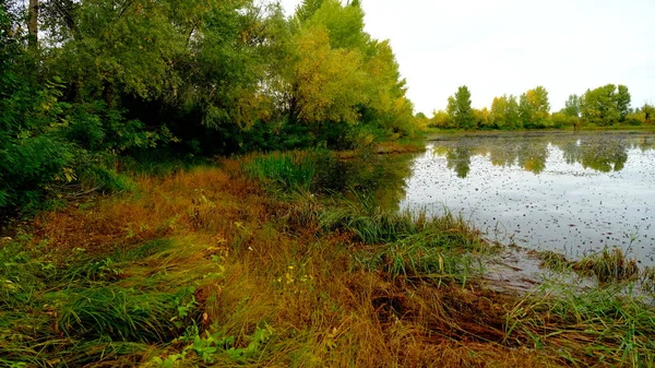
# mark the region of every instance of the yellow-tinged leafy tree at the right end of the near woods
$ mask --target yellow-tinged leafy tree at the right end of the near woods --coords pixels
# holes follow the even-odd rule
[[[274,93],[287,124],[310,127],[329,145],[416,129],[395,56],[389,41],[364,32],[358,2],[303,1],[288,37]]]

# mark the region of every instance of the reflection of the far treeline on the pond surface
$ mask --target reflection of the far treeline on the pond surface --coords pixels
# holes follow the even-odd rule
[[[597,133],[600,134],[602,133]],[[628,161],[628,150],[652,150],[653,138],[623,136],[619,140],[606,140],[594,135],[573,135],[567,133],[552,134],[516,134],[448,136],[434,142],[434,153],[445,156],[448,168],[457,177],[466,178],[471,171],[472,156],[489,156],[495,166],[519,166],[523,169],[540,174],[551,150],[559,149],[569,165],[581,164],[602,173],[620,171]]]

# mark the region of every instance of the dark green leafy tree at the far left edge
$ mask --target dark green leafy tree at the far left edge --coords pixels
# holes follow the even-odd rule
[[[60,84],[39,84],[38,63],[22,49],[13,24],[0,3],[0,209],[40,205],[48,186],[67,181],[73,158],[62,134]]]

